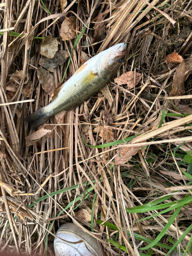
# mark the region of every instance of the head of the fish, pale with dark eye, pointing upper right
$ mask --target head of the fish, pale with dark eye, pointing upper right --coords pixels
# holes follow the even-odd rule
[[[98,65],[100,78],[111,77],[117,72],[127,53],[126,47],[126,42],[121,42],[100,53]]]

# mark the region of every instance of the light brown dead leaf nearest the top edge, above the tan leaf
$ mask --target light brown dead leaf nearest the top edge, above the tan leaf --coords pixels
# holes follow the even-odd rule
[[[66,17],[60,28],[60,36],[63,41],[71,40],[76,36],[76,17]]]

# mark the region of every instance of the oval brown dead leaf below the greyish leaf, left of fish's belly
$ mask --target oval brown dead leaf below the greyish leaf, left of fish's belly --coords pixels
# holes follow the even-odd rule
[[[49,95],[52,95],[55,90],[54,77],[49,73],[49,71],[43,68],[38,68],[37,77],[41,83],[42,89],[44,89]]]

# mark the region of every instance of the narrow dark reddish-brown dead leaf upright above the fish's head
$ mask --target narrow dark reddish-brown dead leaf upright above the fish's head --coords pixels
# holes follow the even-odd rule
[[[97,18],[97,23],[94,26],[94,35],[92,37],[92,44],[95,44],[95,42],[102,41],[105,38],[105,23],[102,22],[103,15],[102,13],[99,14]],[[95,49],[97,46],[94,45],[93,48]]]

